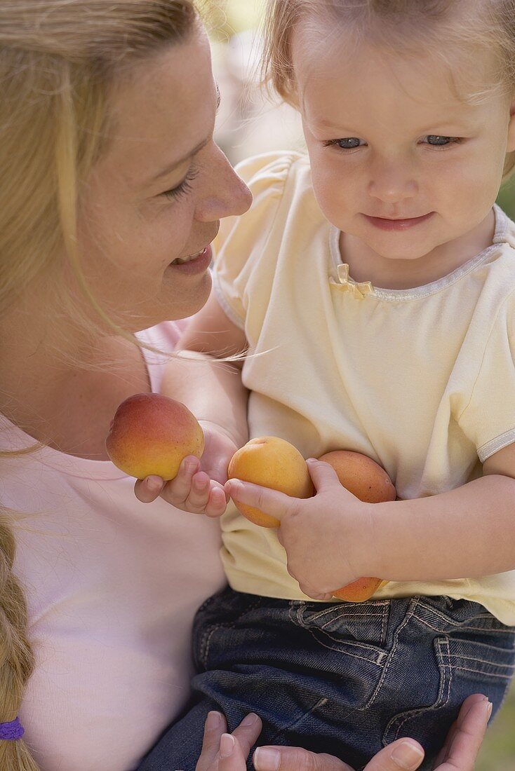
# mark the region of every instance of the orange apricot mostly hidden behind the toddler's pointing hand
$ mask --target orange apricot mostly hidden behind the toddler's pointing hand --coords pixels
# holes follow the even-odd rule
[[[333,466],[340,483],[364,503],[395,500],[397,493],[390,477],[374,460],[349,449],[336,449],[319,460]],[[334,591],[334,597],[347,602],[364,602],[384,586],[381,578],[362,577]]]

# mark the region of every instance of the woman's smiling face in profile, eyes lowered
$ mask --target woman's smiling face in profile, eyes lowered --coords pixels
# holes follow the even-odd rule
[[[208,244],[251,195],[213,140],[219,95],[202,29],[113,93],[113,140],[87,180],[78,232],[93,295],[136,332],[202,308]]]

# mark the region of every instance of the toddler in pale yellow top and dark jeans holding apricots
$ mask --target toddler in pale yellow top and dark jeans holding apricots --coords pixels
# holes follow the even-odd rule
[[[222,224],[183,345],[247,346],[250,436],[364,453],[400,500],[361,503],[316,461],[309,500],[229,481],[281,526],[229,503],[195,702],[142,769],[194,769],[210,709],[355,768],[412,736],[429,768],[466,695],[499,708],[515,658],[515,224],[494,204],[515,165],[515,3],[273,0],[267,35],[309,157],[239,167],[253,205]],[[222,387],[195,399],[216,423]],[[191,486],[191,509],[220,513],[220,485],[189,474],[170,499]],[[388,583],[332,598],[360,576]]]

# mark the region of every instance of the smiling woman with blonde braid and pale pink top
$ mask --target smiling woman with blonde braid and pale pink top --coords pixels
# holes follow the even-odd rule
[[[0,74],[0,768],[127,771],[223,577],[218,524],[140,503],[103,441],[249,192],[190,0],[1,0]]]

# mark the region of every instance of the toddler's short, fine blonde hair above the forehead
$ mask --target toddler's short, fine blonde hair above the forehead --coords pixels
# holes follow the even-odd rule
[[[304,19],[317,17],[334,24],[334,35],[348,29],[356,39],[373,39],[389,49],[446,56],[442,41],[449,52],[456,45],[476,45],[496,56],[493,86],[507,96],[515,93],[515,0],[269,0],[263,82],[295,108],[293,31]],[[505,176],[514,167],[515,153],[508,153]]]

